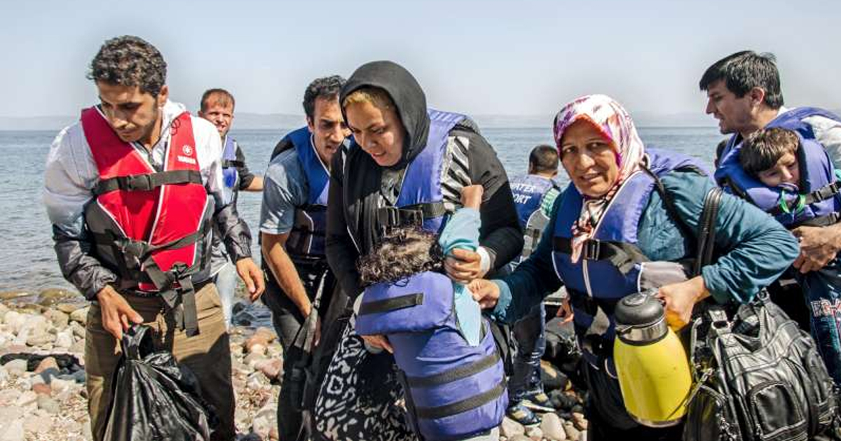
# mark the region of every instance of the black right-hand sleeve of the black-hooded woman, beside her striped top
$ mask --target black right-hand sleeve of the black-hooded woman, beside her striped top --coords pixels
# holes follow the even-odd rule
[[[479,244],[489,249],[491,269],[498,270],[520,255],[523,249],[523,233],[508,176],[494,148],[480,134],[469,130],[453,130],[451,134],[469,140],[470,181],[484,186],[482,207],[479,209],[482,218]]]

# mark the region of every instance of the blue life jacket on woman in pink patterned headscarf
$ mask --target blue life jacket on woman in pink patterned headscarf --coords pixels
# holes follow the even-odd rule
[[[651,262],[637,245],[637,228],[652,192],[660,192],[664,206],[679,227],[680,218],[659,183],[659,176],[674,170],[703,173],[701,165],[688,156],[648,149],[648,164],[622,183],[611,199],[592,239],[584,242],[579,261],[572,263],[572,227],[581,213],[583,197],[573,184],[563,192],[554,225],[553,263],[558,277],[570,294],[574,327],[584,359],[601,368],[612,366],[615,323],[613,311],[622,297],[667,283],[686,280],[688,269],[678,262]],[[685,234],[689,234],[685,230]]]

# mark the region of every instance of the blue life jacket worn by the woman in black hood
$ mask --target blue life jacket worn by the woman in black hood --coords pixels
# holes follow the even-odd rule
[[[400,193],[394,207],[381,207],[378,228],[417,224],[426,231],[439,233],[447,222],[447,208],[441,190],[447,137],[464,117],[458,113],[429,109],[429,134],[426,146],[406,167]]]

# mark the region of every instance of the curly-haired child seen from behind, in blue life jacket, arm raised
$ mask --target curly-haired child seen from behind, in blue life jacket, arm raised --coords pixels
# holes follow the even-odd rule
[[[505,372],[489,324],[467,286],[443,274],[452,249],[479,247],[482,186],[466,186],[463,207],[440,237],[393,228],[359,261],[360,335],[384,335],[405,390],[410,425],[423,439],[471,438],[505,416]]]

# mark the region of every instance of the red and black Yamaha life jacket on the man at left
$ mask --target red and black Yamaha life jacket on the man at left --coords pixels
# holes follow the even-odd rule
[[[98,108],[82,111],[82,129],[99,172],[85,212],[99,260],[119,274],[119,289],[160,295],[188,335],[198,333],[193,276],[209,268],[214,204],[202,183],[189,113],[172,121],[162,171],[119,139]],[[203,256],[204,259],[199,259]],[[199,280],[204,280],[199,279]]]

